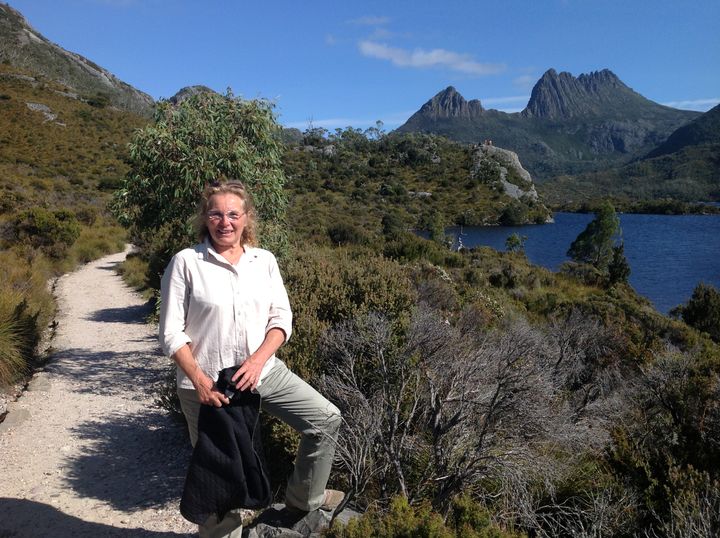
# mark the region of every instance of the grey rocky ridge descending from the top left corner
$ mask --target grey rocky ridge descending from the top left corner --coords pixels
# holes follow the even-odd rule
[[[70,95],[148,116],[154,100],[87,58],[50,42],[7,4],[0,4],[0,62],[60,82]]]

